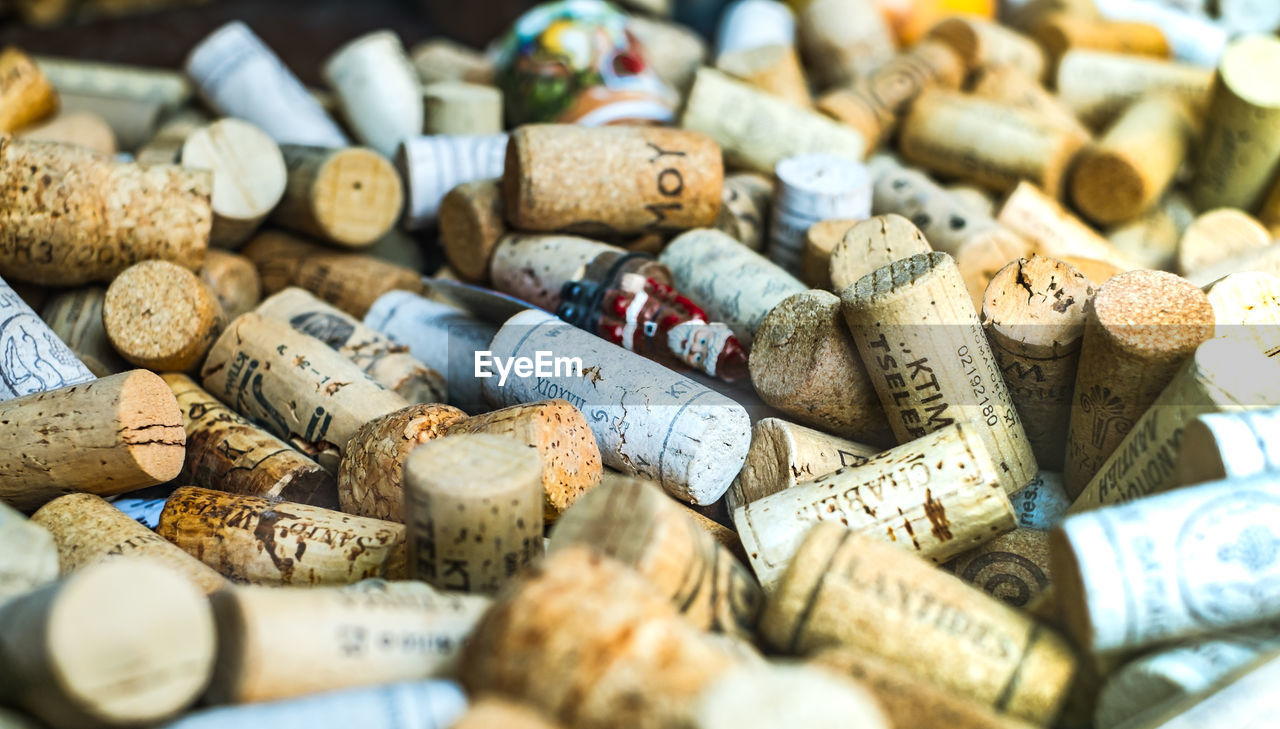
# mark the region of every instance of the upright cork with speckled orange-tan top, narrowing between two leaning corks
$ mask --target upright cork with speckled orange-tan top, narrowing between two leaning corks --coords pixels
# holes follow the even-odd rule
[[[1184,279],[1129,271],[1102,284],[1087,312],[1071,400],[1062,477],[1073,499],[1211,336],[1213,307]]]

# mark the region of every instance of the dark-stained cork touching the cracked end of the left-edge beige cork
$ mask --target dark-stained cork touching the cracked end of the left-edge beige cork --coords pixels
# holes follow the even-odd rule
[[[333,476],[280,439],[233,413],[186,375],[164,375],[182,408],[182,481],[204,489],[335,506]]]

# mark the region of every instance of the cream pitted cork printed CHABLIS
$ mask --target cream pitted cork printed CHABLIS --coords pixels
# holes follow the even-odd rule
[[[733,523],[771,591],[813,524],[838,522],[936,564],[1016,527],[980,434],[957,423],[739,506]]]

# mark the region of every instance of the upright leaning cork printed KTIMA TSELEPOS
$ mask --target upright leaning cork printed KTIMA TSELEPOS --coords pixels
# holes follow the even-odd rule
[[[877,269],[845,289],[841,308],[899,443],[969,423],[1007,492],[1034,478],[1027,431],[954,258],[920,253]]]

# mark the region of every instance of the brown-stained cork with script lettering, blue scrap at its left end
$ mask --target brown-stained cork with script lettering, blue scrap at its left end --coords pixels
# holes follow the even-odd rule
[[[349,584],[403,579],[404,527],[342,512],[183,486],[156,533],[233,582]]]

